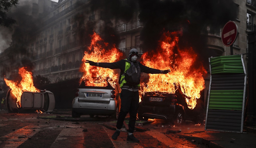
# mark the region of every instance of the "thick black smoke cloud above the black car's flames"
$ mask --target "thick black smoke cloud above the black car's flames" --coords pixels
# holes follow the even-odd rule
[[[237,6],[232,0],[139,0],[139,18],[144,23],[141,40],[145,51],[155,50],[163,31],[183,30],[179,47],[193,47],[208,58],[205,51],[207,26],[219,27],[237,18]]]

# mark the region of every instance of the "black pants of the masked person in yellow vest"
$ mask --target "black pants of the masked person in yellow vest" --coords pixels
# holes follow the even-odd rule
[[[116,128],[121,129],[123,126],[124,118],[127,113],[130,114],[129,119],[129,130],[128,132],[133,133],[135,128],[136,116],[139,107],[139,92],[122,89],[121,94],[121,109],[118,115]]]

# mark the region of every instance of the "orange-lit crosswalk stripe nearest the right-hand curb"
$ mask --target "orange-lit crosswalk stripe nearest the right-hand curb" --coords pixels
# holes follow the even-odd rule
[[[146,131],[146,134],[149,134],[150,136],[152,136],[153,138],[161,141],[162,143],[164,143],[167,146],[171,146],[171,147],[175,147],[175,148],[184,148],[184,145],[177,143],[176,141],[170,139],[169,137],[165,136],[165,134],[157,132],[155,130],[150,130],[150,131]],[[186,148],[193,148],[190,146],[186,146]]]

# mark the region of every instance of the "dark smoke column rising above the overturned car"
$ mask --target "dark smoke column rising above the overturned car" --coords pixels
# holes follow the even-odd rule
[[[8,61],[7,63],[17,62],[20,63],[17,65],[16,68],[12,68],[10,70],[17,71],[20,67],[29,67],[33,69],[33,62],[30,59],[31,53],[28,51],[28,44],[34,42],[34,35],[35,32],[38,31],[40,28],[40,20],[36,20],[31,16],[32,11],[32,3],[33,0],[23,0],[19,1],[19,5],[17,7],[11,8],[10,12],[8,13],[8,17],[13,18],[16,20],[16,24],[12,26],[10,29],[11,31],[7,33],[11,33],[11,41],[9,43],[9,53],[8,54]],[[2,31],[5,31],[3,29]],[[9,30],[9,29],[8,29]],[[5,32],[1,32],[1,34],[5,34]],[[7,38],[8,39],[8,38]],[[20,61],[16,61],[17,55],[21,55],[22,59]],[[4,64],[7,67],[8,64]],[[7,70],[8,68],[4,68]],[[6,72],[1,72],[1,75],[5,74]]]

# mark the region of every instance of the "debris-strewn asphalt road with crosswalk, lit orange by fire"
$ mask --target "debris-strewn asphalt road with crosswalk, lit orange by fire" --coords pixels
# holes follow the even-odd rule
[[[134,136],[140,142],[136,143],[126,141],[125,128],[117,140],[111,139],[114,133],[114,119],[105,116],[81,117],[71,118],[70,114],[0,112],[0,148],[206,147],[196,141],[186,140],[176,133],[198,126],[191,122],[186,122],[183,126],[174,126],[164,120],[155,120],[137,125]]]

